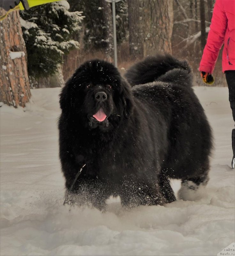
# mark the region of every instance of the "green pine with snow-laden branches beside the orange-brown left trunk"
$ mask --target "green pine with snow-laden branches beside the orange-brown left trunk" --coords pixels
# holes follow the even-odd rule
[[[22,11],[21,26],[28,54],[28,72],[34,78],[57,72],[62,57],[79,47],[73,40],[81,29],[81,12],[69,12],[66,1]]]

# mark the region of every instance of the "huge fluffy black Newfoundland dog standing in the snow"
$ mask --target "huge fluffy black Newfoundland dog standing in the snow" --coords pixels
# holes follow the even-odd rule
[[[113,195],[127,208],[162,205],[176,200],[169,178],[191,181],[193,189],[207,183],[211,130],[187,62],[149,57],[126,78],[132,87],[112,64],[92,60],[62,89],[59,146],[67,203],[103,210]]]

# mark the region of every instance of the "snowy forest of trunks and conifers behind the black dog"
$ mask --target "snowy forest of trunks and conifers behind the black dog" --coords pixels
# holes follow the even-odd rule
[[[119,71],[148,55],[170,53],[191,65],[195,85],[215,0],[116,3]],[[0,15],[5,12],[0,9]],[[84,61],[114,62],[111,4],[68,0],[13,12],[0,22],[0,101],[25,106],[32,88],[62,87]],[[222,51],[221,51],[222,52]],[[221,53],[213,86],[226,86]]]

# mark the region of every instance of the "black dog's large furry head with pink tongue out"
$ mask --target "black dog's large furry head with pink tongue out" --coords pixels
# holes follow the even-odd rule
[[[78,68],[60,94],[62,113],[75,124],[109,130],[110,123],[128,118],[133,108],[129,84],[117,68],[103,60],[91,60]]]

